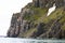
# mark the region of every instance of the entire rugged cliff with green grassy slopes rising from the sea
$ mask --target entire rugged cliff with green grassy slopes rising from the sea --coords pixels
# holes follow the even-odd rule
[[[56,10],[47,17],[54,3]],[[8,37],[65,39],[65,0],[32,0],[12,15]]]

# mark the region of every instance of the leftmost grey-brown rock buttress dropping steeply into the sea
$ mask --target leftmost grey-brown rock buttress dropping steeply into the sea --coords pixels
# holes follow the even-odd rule
[[[21,14],[13,14],[8,37],[17,37],[21,28]]]

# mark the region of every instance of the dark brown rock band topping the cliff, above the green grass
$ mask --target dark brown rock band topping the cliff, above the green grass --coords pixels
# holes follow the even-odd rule
[[[56,4],[56,6],[63,6],[65,5],[65,0],[32,0],[35,6],[39,8],[51,8],[53,3]]]

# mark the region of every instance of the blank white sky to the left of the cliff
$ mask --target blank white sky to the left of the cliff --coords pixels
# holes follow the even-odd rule
[[[0,0],[0,35],[6,35],[13,13],[21,12],[32,0]]]

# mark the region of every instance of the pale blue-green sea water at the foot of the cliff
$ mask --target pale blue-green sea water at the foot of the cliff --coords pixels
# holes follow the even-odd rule
[[[0,38],[0,43],[65,43],[65,40],[36,40],[20,38]]]

